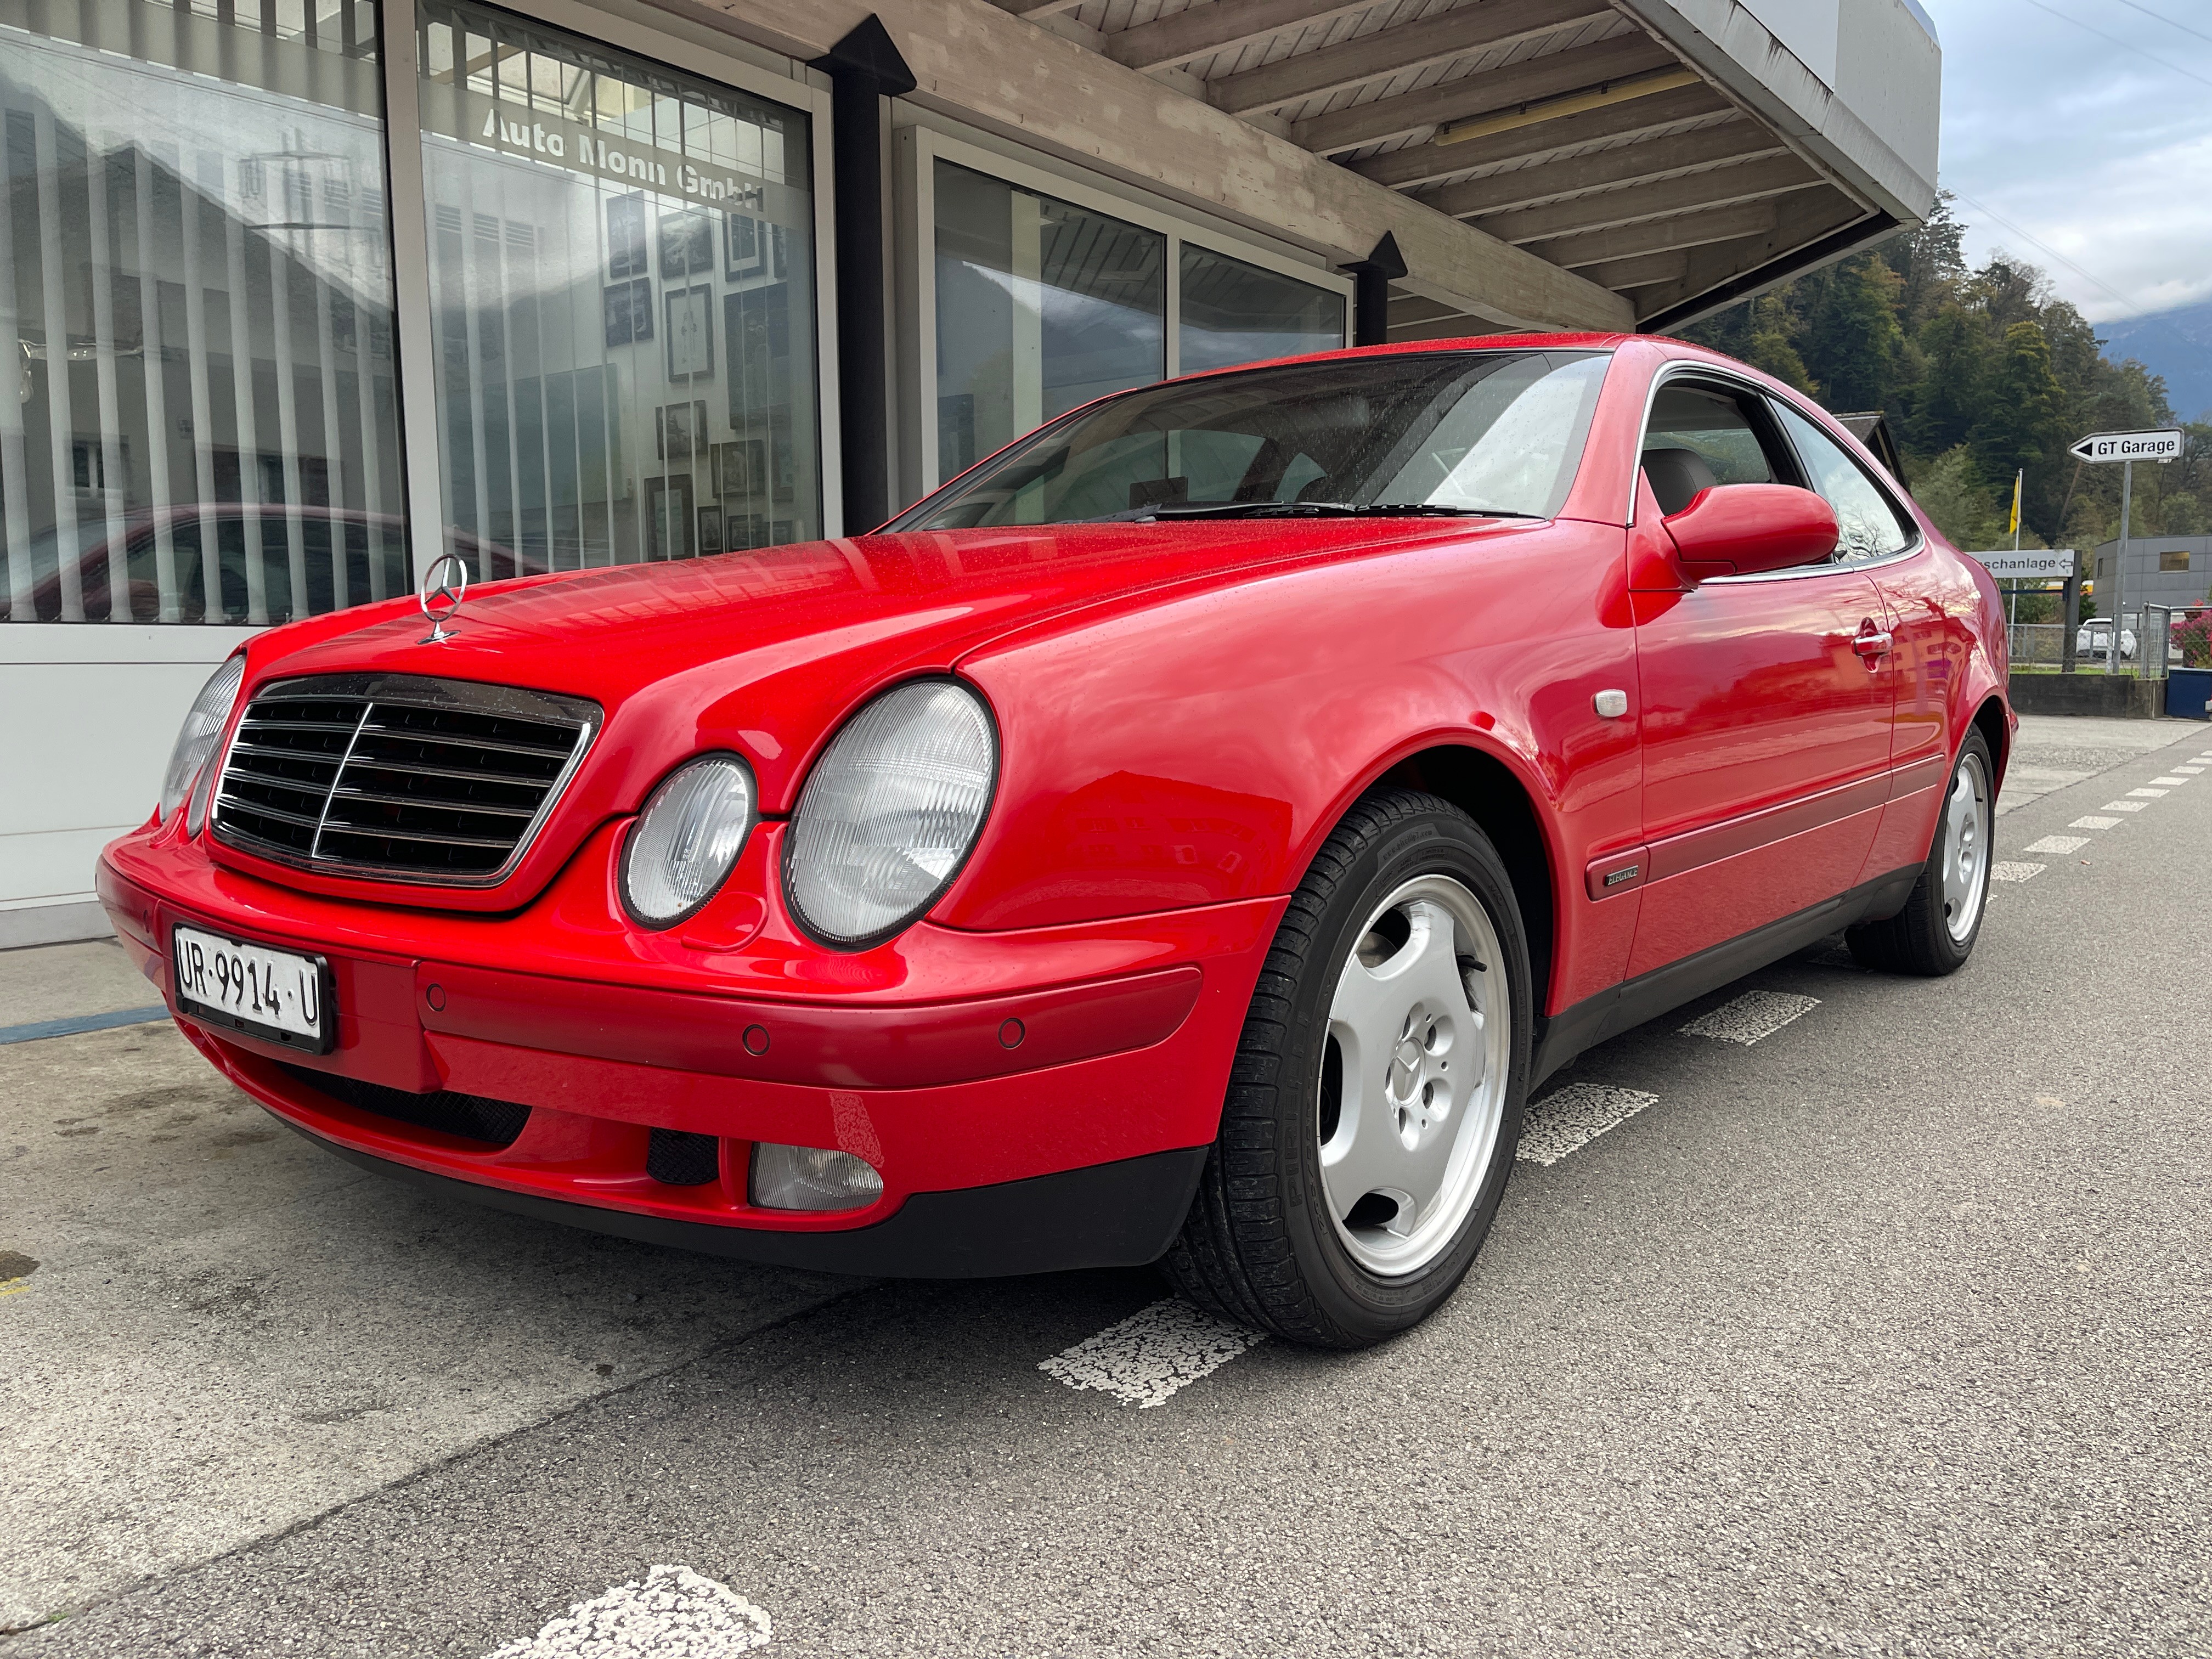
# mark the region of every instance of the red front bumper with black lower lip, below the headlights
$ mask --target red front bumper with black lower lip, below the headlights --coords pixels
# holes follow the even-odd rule
[[[765,830],[732,887],[748,865],[774,867],[779,825]],[[1281,900],[1022,933],[922,922],[830,956],[759,918],[639,938],[608,905],[617,858],[611,827],[529,909],[451,916],[296,891],[142,830],[102,856],[100,896],[219,1071],[394,1175],[834,1272],[1051,1272],[1168,1245]],[[761,887],[743,891],[732,905],[759,911]],[[179,1013],[177,922],[327,958],[332,1053]],[[712,1179],[653,1177],[670,1130],[714,1137]],[[754,1206],[754,1141],[852,1152],[883,1175],[883,1197]]]

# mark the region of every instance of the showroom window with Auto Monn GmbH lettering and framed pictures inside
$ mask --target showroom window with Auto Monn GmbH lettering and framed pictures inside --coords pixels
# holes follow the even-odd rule
[[[462,551],[498,577],[821,535],[807,117],[504,11],[420,18]]]

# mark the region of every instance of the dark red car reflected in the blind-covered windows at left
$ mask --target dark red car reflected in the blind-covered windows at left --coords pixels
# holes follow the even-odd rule
[[[161,533],[168,533],[173,562],[175,615],[161,615]],[[252,533],[261,533],[259,571],[261,615],[270,622],[323,615],[341,606],[367,604],[378,593],[396,595],[414,588],[407,568],[407,526],[394,513],[363,513],[334,507],[243,507],[212,502],[199,507],[135,507],[122,515],[124,591],[133,622],[246,622],[254,615],[250,571]],[[210,608],[201,542],[215,538],[217,604]],[[292,595],[292,540],[301,546],[305,604]],[[115,533],[106,518],[80,518],[71,546],[77,573],[77,608],[84,622],[111,622]],[[55,557],[64,538],[58,529],[31,538],[31,606],[22,622],[60,622],[66,611],[62,560]],[[343,546],[341,562],[332,551]],[[449,531],[451,551],[469,560],[473,571],[495,575],[533,575],[540,560],[515,555],[504,546],[478,542],[467,531]],[[372,562],[383,564],[383,582],[374,580]],[[0,580],[0,622],[15,622],[7,582]]]

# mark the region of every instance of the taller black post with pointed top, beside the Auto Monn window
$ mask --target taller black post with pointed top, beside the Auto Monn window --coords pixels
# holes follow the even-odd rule
[[[836,184],[836,380],[845,533],[891,515],[891,378],[883,283],[883,100],[914,71],[874,13],[814,69],[830,75],[830,177]]]

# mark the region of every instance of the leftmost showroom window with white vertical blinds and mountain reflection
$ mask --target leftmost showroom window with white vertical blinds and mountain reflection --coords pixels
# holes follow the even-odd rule
[[[0,617],[405,593],[376,7],[0,4]]]

